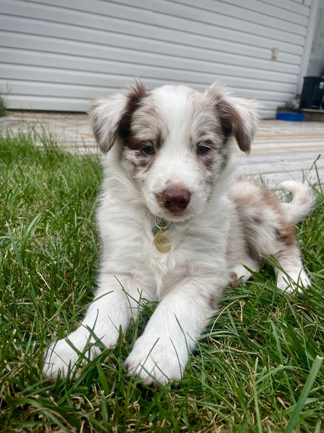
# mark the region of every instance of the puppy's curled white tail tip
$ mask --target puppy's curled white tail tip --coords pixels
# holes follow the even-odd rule
[[[289,203],[282,203],[286,219],[291,223],[303,221],[316,202],[312,189],[308,185],[294,180],[282,182],[280,187],[293,195],[293,199]]]

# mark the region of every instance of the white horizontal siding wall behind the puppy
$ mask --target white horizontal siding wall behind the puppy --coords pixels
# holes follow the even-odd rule
[[[83,111],[133,77],[221,79],[273,117],[295,95],[311,1],[0,0],[0,89],[9,108]]]

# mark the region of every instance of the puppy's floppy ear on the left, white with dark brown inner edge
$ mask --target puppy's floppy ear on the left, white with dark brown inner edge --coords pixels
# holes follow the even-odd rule
[[[130,134],[131,115],[146,96],[143,84],[137,80],[124,92],[97,99],[90,105],[92,130],[101,151],[109,151],[118,135],[125,139]]]

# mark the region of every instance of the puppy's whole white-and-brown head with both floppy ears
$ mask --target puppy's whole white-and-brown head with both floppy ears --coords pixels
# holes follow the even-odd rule
[[[91,107],[103,152],[116,143],[126,175],[152,214],[183,221],[204,211],[228,162],[230,138],[249,152],[258,123],[251,101],[214,84],[146,92],[140,82]]]

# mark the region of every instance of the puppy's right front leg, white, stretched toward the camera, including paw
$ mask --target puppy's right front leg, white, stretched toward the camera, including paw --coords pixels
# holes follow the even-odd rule
[[[217,308],[228,280],[187,277],[163,299],[146,325],[125,364],[142,382],[165,384],[179,379],[189,353]]]

